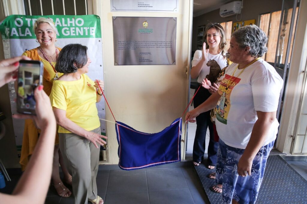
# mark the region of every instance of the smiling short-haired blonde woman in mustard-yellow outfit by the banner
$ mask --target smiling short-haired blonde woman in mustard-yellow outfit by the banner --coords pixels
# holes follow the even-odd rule
[[[60,48],[55,46],[56,40],[56,27],[53,22],[46,18],[38,18],[34,23],[33,29],[36,35],[36,42],[40,44],[32,50],[25,51],[22,55],[28,56],[33,60],[39,60],[44,64],[44,75],[43,75],[43,85],[44,91],[49,96],[52,88],[52,82],[57,77],[62,74],[58,73],[54,66],[56,63],[56,58],[60,52]],[[29,161],[29,156],[32,155],[35,145],[38,140],[40,130],[38,130],[33,123],[33,120],[25,120],[25,129],[23,133],[23,141],[21,147],[21,156],[19,163],[21,164],[21,169],[25,170],[26,165]],[[53,156],[53,166],[52,166],[52,182],[58,195],[62,197],[69,197],[71,192],[68,188],[64,186],[60,179],[59,173],[59,161],[64,174],[64,180],[66,183],[71,184],[72,176],[68,173],[62,162],[62,156],[59,151],[59,136],[56,134],[54,156]]]

